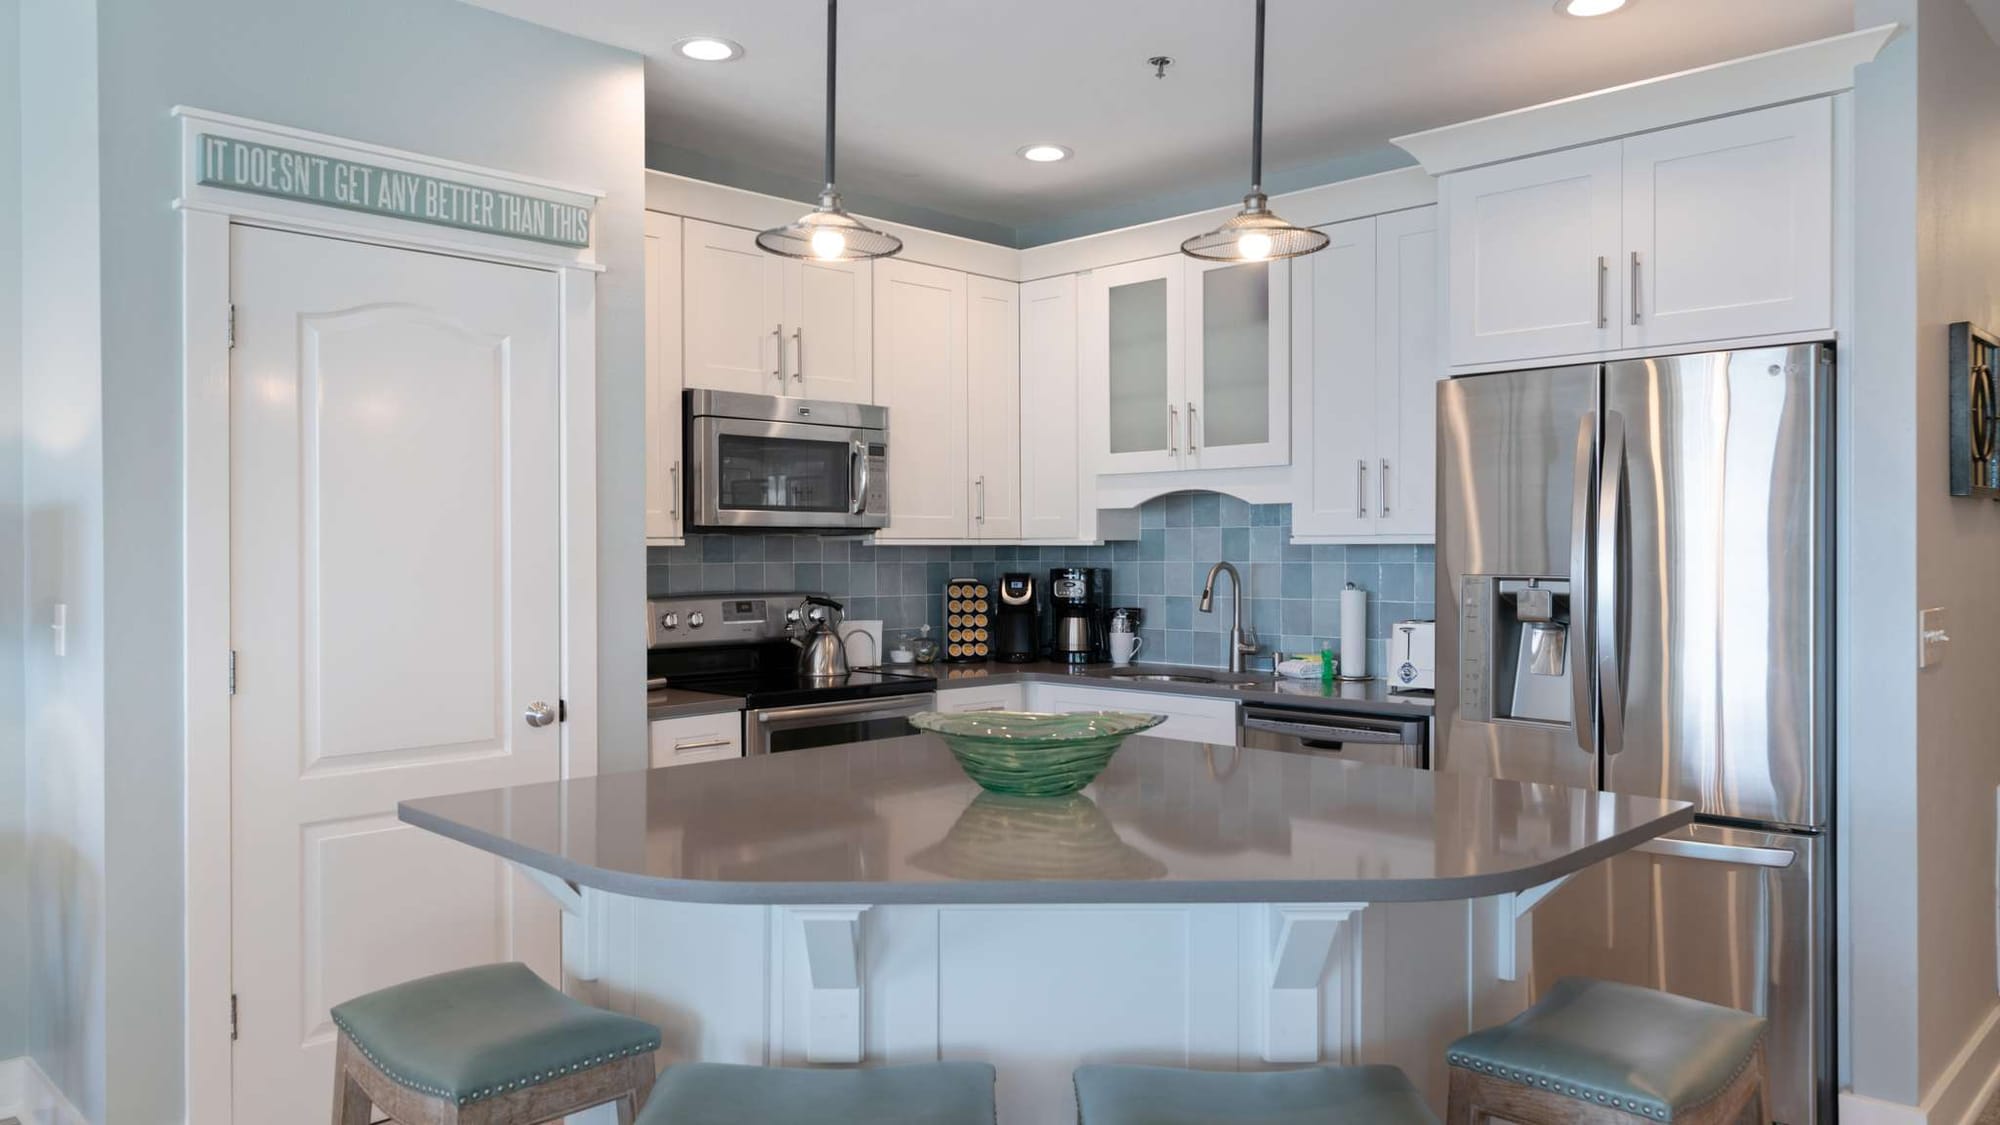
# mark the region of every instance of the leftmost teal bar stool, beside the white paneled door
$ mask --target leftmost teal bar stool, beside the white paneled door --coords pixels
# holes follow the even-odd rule
[[[652,1089],[660,1029],[578,1003],[526,965],[406,981],[334,1007],[334,1125],[534,1125]]]

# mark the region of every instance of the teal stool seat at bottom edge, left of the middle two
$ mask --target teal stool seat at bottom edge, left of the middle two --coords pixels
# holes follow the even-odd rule
[[[640,1125],[994,1125],[986,1063],[800,1069],[680,1063]]]

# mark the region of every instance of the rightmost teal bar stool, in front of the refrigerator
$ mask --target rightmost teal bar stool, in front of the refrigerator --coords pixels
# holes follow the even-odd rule
[[[1564,977],[1540,1003],[1446,1051],[1450,1125],[1724,1125],[1764,1107],[1764,1019]]]

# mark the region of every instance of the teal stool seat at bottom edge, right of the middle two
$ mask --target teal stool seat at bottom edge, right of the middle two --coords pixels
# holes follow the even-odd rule
[[[1080,1125],[1438,1125],[1396,1067],[1076,1069]]]

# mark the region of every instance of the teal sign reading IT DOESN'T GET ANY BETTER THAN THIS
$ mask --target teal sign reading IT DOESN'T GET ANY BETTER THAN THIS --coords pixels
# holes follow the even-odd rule
[[[590,246],[590,208],[572,202],[208,132],[200,134],[198,152],[198,180],[216,188],[552,246]]]

